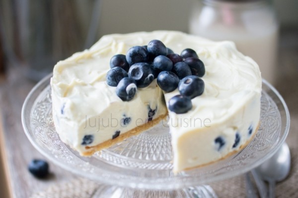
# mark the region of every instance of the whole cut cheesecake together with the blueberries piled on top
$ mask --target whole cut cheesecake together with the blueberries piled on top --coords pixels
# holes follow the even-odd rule
[[[257,64],[232,42],[181,32],[104,36],[59,62],[51,86],[56,130],[81,155],[168,115],[174,172],[243,148],[260,117]]]

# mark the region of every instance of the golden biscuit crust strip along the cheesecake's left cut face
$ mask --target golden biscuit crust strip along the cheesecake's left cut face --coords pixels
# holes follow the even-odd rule
[[[87,151],[80,153],[80,155],[82,156],[90,156],[92,154],[94,154],[97,151],[100,151],[104,148],[109,148],[112,145],[119,143],[121,141],[123,141],[124,139],[127,139],[133,135],[138,135],[141,132],[144,132],[146,130],[148,130],[149,128],[153,127],[154,125],[157,125],[161,120],[164,120],[167,117],[167,113],[164,115],[159,116],[158,118],[145,123],[144,125],[141,125],[139,127],[136,127],[128,132],[125,132],[123,134],[120,134],[118,137],[114,138],[114,139],[109,139],[107,141],[104,141],[100,144],[97,144],[95,146],[85,146],[85,148],[87,149]]]

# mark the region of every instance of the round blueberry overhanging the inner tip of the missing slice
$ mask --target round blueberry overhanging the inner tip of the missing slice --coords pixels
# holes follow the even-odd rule
[[[163,91],[171,92],[178,87],[179,78],[171,71],[161,71],[157,76],[157,84]]]

